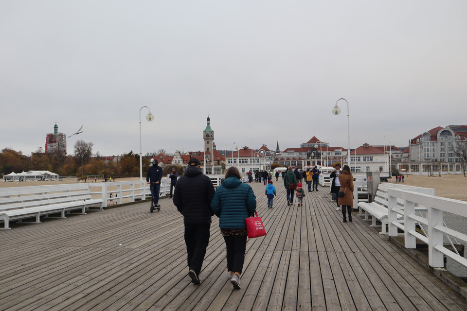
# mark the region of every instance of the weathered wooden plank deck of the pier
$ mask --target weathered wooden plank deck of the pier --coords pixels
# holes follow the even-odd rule
[[[274,208],[251,183],[268,234],[247,242],[241,290],[226,271],[213,217],[201,284],[187,276],[183,220],[169,199],[0,231],[0,310],[467,310],[415,260],[354,213],[342,223],[328,188]]]

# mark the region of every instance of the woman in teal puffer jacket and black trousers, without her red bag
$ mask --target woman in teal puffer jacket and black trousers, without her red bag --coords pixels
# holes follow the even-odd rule
[[[240,275],[245,261],[247,225],[245,218],[254,214],[256,197],[250,185],[242,183],[234,166],[225,172],[225,180],[217,186],[211,209],[219,217],[219,227],[227,251],[227,270],[235,289],[240,289]]]

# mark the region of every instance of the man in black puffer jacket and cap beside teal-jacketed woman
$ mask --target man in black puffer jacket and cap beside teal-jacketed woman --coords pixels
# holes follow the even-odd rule
[[[199,272],[203,264],[206,248],[209,245],[211,227],[211,201],[214,186],[211,179],[204,175],[201,163],[195,157],[188,161],[188,168],[175,184],[174,204],[183,215],[185,224],[185,244],[188,257],[188,276],[191,282],[199,284]]]

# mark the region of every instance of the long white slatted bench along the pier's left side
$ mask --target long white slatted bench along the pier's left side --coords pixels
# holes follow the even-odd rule
[[[86,214],[90,207],[102,210],[102,199],[93,199],[89,184],[65,184],[0,189],[0,222],[10,229],[9,222],[18,220],[23,224],[40,224],[40,216],[66,218],[68,214]],[[81,212],[71,213],[73,210]],[[52,217],[52,214],[60,214]],[[35,221],[22,221],[35,218]]]

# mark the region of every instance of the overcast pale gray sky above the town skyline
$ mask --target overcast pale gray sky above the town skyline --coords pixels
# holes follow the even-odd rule
[[[465,0],[0,0],[0,148],[347,147],[467,124]]]

